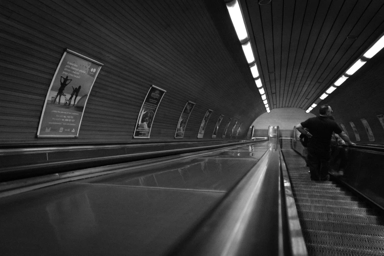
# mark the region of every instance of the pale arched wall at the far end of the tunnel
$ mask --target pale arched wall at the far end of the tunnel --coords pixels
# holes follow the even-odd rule
[[[279,126],[281,137],[292,137],[292,128],[297,124],[315,117],[312,113],[306,113],[304,109],[296,107],[282,107],[271,110],[271,113],[260,115],[253,122],[256,137],[266,137],[268,126]]]

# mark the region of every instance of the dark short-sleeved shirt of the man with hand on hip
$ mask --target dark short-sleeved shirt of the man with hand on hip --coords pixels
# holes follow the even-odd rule
[[[332,133],[340,133],[343,130],[328,117],[317,116],[302,122],[304,128],[308,128],[312,137],[308,142],[308,149],[318,151],[330,151]]]

